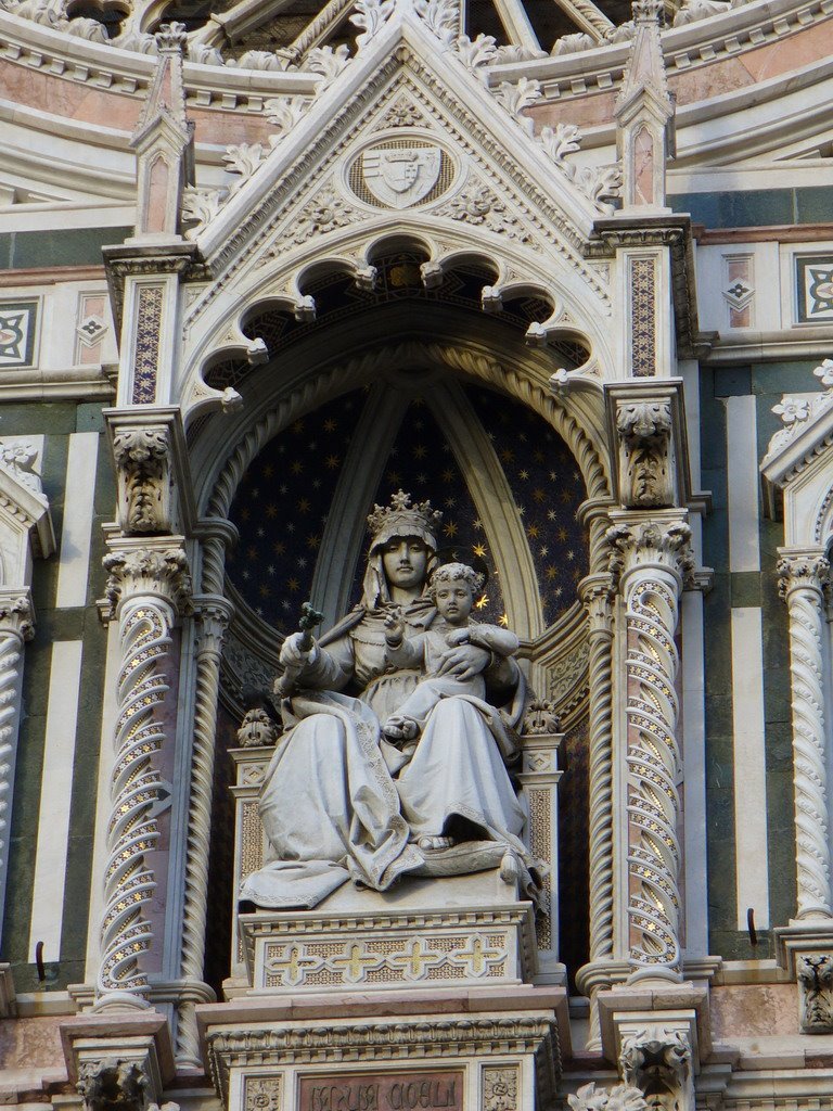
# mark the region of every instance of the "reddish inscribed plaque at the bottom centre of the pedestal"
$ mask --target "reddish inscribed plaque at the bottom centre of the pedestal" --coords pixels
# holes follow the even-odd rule
[[[463,1111],[463,1072],[302,1077],[298,1111]]]

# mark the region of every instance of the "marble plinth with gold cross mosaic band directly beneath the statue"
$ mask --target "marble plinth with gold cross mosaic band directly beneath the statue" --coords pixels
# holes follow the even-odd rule
[[[248,995],[520,984],[535,974],[532,904],[498,869],[343,888],[312,911],[241,914]]]

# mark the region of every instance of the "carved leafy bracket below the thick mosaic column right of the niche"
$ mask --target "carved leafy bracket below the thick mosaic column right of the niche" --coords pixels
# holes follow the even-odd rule
[[[690,1035],[679,1028],[648,1025],[622,1038],[619,1067],[655,1111],[693,1111]]]

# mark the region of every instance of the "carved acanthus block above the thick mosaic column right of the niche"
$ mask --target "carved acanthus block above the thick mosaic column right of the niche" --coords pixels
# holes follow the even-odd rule
[[[671,401],[645,398],[619,401],[619,486],[629,508],[674,504],[674,467],[671,441]]]

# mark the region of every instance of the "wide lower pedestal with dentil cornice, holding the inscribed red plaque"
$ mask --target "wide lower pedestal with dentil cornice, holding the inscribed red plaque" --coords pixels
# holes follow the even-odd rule
[[[562,988],[249,998],[197,1014],[229,1111],[535,1111],[569,1037]]]

